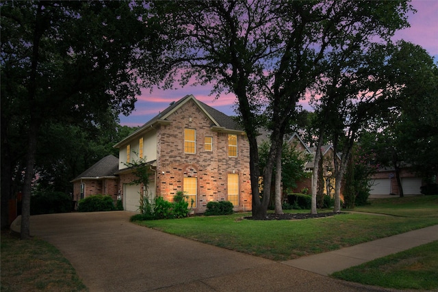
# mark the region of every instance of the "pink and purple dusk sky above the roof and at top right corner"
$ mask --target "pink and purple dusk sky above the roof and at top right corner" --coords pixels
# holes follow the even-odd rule
[[[411,2],[417,13],[409,16],[411,27],[396,32],[394,40],[407,40],[422,46],[429,55],[435,57],[438,62],[438,0],[413,0]],[[168,107],[172,101],[178,101],[187,94],[193,94],[198,100],[207,103],[211,107],[222,111],[227,115],[235,115],[233,105],[235,96],[233,94],[222,94],[220,98],[214,99],[215,95],[210,94],[210,86],[178,87],[177,90],[157,90],[150,93],[149,89],[142,90],[138,96],[136,109],[129,116],[120,116],[120,124],[136,127],[148,122],[156,116],[159,111]],[[309,105],[302,103],[306,109]]]

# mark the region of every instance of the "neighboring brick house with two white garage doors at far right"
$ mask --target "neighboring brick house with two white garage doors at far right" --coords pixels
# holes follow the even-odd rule
[[[409,168],[400,169],[400,180],[404,195],[421,194],[420,187],[423,185],[423,180],[414,172],[409,171]],[[372,183],[370,195],[400,195],[394,168],[379,169],[376,174],[371,176],[370,183]]]

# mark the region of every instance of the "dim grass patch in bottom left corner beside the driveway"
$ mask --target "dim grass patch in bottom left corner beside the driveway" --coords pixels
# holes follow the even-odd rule
[[[1,233],[1,284],[7,291],[88,291],[53,245]]]

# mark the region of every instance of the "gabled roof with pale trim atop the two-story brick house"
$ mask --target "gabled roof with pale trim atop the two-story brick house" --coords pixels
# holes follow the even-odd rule
[[[184,96],[179,101],[170,103],[169,107],[164,109],[164,111],[161,111],[159,114],[157,114],[157,116],[149,120],[149,122],[146,122],[146,124],[142,125],[142,127],[138,128],[136,131],[131,133],[131,135],[129,135],[128,137],[126,137],[125,139],[114,145],[114,147],[118,148],[122,146],[128,140],[131,140],[132,137],[135,137],[136,135],[144,131],[148,131],[155,124],[170,123],[168,117],[171,114],[173,114],[175,111],[177,111],[177,109],[185,105],[185,103],[188,103],[189,101],[194,101],[194,103],[199,107],[199,109],[203,111],[205,116],[207,116],[211,120],[211,127],[215,127],[216,129],[224,129],[231,131],[243,131],[242,128],[239,126],[239,124],[235,122],[235,120],[233,120],[233,118],[227,116],[226,114],[223,114],[222,112],[218,111],[217,109],[214,109],[213,107],[210,107],[209,105],[206,105],[201,101],[198,101],[192,94],[190,94]]]

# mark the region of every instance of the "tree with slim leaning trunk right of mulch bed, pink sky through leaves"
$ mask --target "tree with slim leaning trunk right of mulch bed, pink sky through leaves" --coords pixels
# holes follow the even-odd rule
[[[413,53],[409,60],[401,58],[406,51]],[[337,65],[321,81],[318,112],[324,120],[320,135],[328,135],[335,152],[341,153],[340,161],[333,161],[335,211],[340,211],[341,182],[355,141],[369,127],[369,120],[390,114],[404,104],[412,84],[407,83],[407,76],[415,76],[415,66],[421,66],[423,58],[424,53],[412,44],[398,42],[372,44],[354,58],[329,62]]]

